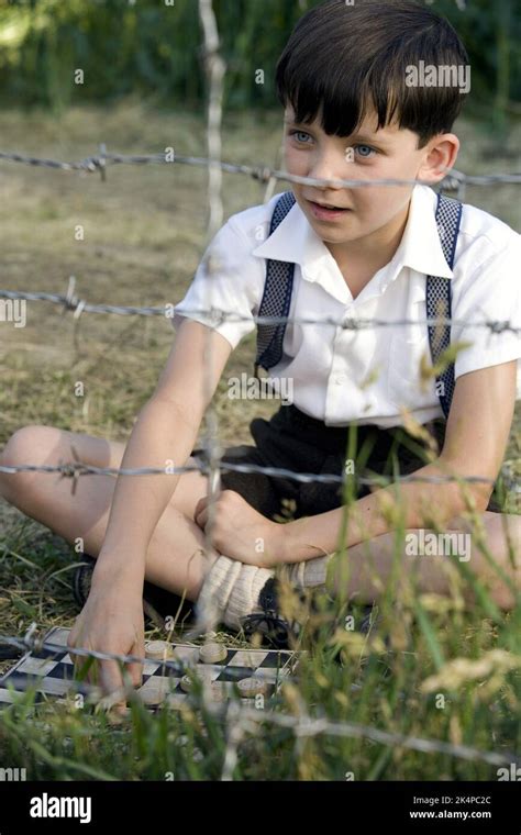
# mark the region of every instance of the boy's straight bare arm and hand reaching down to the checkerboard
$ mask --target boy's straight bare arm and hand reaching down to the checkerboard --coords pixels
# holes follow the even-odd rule
[[[206,347],[209,346],[209,356]],[[182,320],[166,367],[152,398],[141,410],[122,460],[123,468],[186,464],[226,360],[231,344],[199,322]],[[179,476],[119,476],[108,527],[88,600],[68,639],[74,647],[144,656],[143,582],[152,534]],[[104,690],[123,679],[115,661],[99,665]],[[142,669],[128,665],[134,686]],[[120,703],[124,704],[124,700]]]

